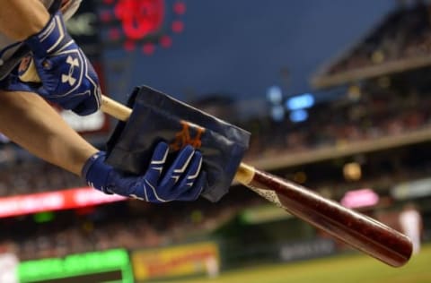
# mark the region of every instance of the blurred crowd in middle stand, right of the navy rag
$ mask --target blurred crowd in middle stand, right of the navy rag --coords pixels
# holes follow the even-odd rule
[[[356,101],[347,98],[344,103],[325,103],[309,109],[309,118],[303,123],[292,123],[286,117],[281,124],[272,121],[245,124],[252,133],[246,159],[372,141],[424,129],[431,125],[430,107],[431,98],[427,94],[412,91],[399,96],[388,90],[379,93],[365,90]]]

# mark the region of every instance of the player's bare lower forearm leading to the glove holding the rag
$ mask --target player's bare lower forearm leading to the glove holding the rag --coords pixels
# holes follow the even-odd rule
[[[0,91],[0,132],[34,155],[81,174],[97,150],[38,95]]]

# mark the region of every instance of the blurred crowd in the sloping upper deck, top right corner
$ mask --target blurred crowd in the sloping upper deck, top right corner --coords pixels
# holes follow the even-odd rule
[[[366,36],[361,44],[341,57],[328,73],[343,73],[375,64],[428,56],[431,51],[430,6],[418,1],[401,6]]]

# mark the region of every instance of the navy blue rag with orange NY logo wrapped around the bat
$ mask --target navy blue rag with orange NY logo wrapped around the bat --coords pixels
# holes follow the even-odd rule
[[[128,107],[131,116],[117,124],[108,142],[111,166],[141,174],[157,142],[168,142],[172,152],[191,144],[202,152],[207,171],[202,195],[217,202],[228,192],[250,133],[146,86],[133,91]]]

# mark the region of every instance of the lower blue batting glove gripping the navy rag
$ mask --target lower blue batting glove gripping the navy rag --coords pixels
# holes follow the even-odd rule
[[[88,184],[103,193],[117,193],[146,202],[197,200],[207,179],[206,173],[200,172],[201,153],[186,146],[166,168],[168,151],[165,142],[158,143],[143,176],[130,175],[105,164],[105,152],[100,151],[87,160],[83,176]]]

